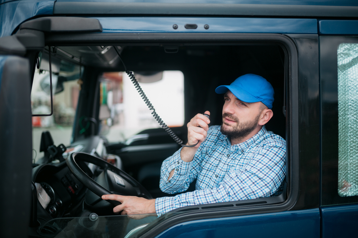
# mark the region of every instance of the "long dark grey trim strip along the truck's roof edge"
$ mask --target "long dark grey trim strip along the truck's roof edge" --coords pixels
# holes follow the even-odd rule
[[[357,6],[276,4],[196,4],[154,2],[55,2],[54,15],[165,15],[165,16],[271,16],[358,17]]]

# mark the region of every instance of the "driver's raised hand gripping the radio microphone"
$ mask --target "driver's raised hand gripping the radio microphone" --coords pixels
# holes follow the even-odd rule
[[[209,111],[205,111],[205,114],[210,115]],[[190,120],[187,124],[188,126],[188,143],[187,145],[195,145],[198,141],[198,145],[192,148],[199,148],[200,144],[204,142],[207,131],[209,130],[208,124],[210,120],[203,114],[197,114],[195,117]]]

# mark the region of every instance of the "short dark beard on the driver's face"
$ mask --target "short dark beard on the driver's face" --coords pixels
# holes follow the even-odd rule
[[[248,134],[250,134],[258,125],[258,121],[260,120],[260,113],[256,116],[253,121],[248,122],[240,122],[239,119],[231,114],[224,113],[223,118],[228,117],[230,120],[236,122],[236,126],[231,128],[224,128],[223,125],[230,126],[228,123],[224,121],[221,123],[220,131],[223,135],[228,136],[230,139],[241,140],[245,138]]]

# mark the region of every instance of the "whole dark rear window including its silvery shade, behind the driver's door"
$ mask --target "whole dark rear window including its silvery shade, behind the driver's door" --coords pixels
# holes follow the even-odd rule
[[[322,205],[358,202],[358,38],[320,37]]]

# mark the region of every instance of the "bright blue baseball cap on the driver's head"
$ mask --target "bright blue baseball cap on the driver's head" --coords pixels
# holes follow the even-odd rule
[[[222,85],[215,89],[216,93],[226,93],[230,90],[233,95],[243,102],[262,102],[272,109],[274,88],[266,79],[256,74],[246,74],[238,77],[230,85]]]

